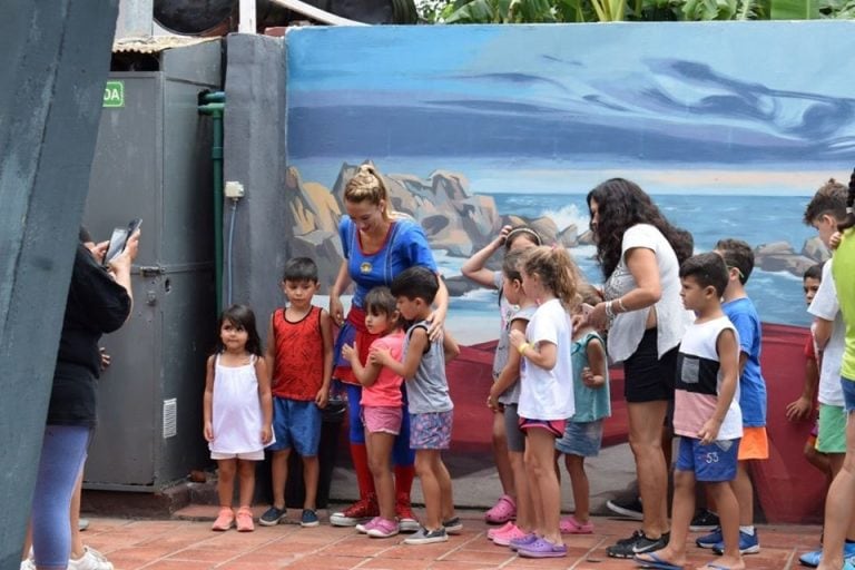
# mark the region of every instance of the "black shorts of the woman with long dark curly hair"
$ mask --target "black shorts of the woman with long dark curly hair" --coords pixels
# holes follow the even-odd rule
[[[674,400],[678,347],[660,358],[656,338],[655,327],[645,331],[636,352],[623,362],[623,397],[627,402]]]

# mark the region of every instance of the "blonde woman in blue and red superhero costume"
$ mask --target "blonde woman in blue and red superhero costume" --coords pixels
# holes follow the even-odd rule
[[[360,405],[362,386],[350,362],[342,356],[342,347],[345,344],[354,346],[360,362],[364,365],[371,343],[379,337],[365,327],[367,292],[374,287],[390,286],[397,274],[410,267],[424,266],[438,276],[439,269],[421,226],[406,216],[393,213],[386,185],[373,165],[361,165],[347,181],[344,188],[344,208],[346,216],[342,216],[338,224],[344,259],[330,291],[330,314],[341,326],[333,352],[333,377],[343,382],[347,390],[351,456],[356,471],[360,500],[344,511],[333,513],[330,522],[338,527],[355,527],[365,519],[380,515],[380,511],[365,448],[365,430]],[[442,331],[449,307],[449,292],[443,279],[440,278],[439,282],[440,289],[431,318],[431,336]],[[355,285],[355,291],[351,309],[345,317],[340,296],[351,283]],[[406,406],[405,387],[402,386],[402,390],[403,405]],[[415,474],[415,456],[410,450],[410,422],[406,412],[403,414],[401,432],[395,439],[392,456],[395,464],[395,510],[400,528],[404,532],[414,532],[419,530],[419,521],[410,507],[410,490]]]

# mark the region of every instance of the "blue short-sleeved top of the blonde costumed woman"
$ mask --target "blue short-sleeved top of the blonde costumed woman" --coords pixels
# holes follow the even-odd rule
[[[416,265],[436,272],[433,252],[422,227],[412,219],[399,218],[392,222],[386,239],[379,252],[365,255],[360,244],[360,230],[347,216],[338,223],[347,273],[356,285],[352,303],[363,307],[365,294],[374,287],[392,285],[399,273]]]

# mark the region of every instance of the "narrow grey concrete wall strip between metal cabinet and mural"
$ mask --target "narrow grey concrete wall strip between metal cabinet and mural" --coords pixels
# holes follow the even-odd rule
[[[225,180],[244,185],[235,212],[232,302],[253,307],[262,336],[283,303],[278,287],[285,240],[285,48],[282,38],[232,35],[227,42]],[[228,236],[233,207],[224,206],[223,303],[228,304]]]

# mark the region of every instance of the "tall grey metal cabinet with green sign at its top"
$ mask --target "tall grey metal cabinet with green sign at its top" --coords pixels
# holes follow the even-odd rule
[[[222,49],[216,40],[137,56],[145,66],[129,68],[154,69],[109,76],[83,218],[96,240],[142,218],[132,316],[101,340],[112,362],[98,386],[83,481],[154,492],[209,462],[202,406],[217,318],[213,128],[197,107],[200,91],[222,87]]]

